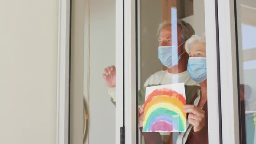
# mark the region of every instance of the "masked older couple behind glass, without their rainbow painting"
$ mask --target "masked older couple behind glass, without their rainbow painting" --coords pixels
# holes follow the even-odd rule
[[[205,36],[194,35],[192,26],[183,20],[177,21],[177,36],[172,36],[171,33],[170,22],[164,21],[160,24],[158,58],[167,70],[151,75],[138,92],[138,103],[141,105],[138,111],[140,130],[143,126],[145,87],[184,82],[187,104],[190,105],[184,105],[184,112],[187,113],[187,130],[178,133],[177,144],[208,144]],[[172,39],[177,39],[177,43],[175,44]],[[115,104],[115,66],[105,68],[103,78],[108,85],[111,101]],[[241,92],[240,96],[244,96]],[[241,105],[244,105],[242,101]],[[172,144],[173,142],[173,133],[167,136],[167,141],[163,141],[158,132],[141,131],[141,133],[145,144]]]

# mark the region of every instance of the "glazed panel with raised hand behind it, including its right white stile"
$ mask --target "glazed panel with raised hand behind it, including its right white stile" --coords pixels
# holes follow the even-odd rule
[[[117,5],[72,0],[70,144],[120,143],[123,22],[116,21],[122,19]]]

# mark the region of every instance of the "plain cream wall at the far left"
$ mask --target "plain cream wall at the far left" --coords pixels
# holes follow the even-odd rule
[[[1,0],[0,18],[0,144],[55,144],[58,0]]]

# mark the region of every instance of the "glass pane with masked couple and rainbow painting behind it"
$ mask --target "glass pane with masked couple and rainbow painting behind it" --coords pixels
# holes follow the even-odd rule
[[[204,0],[138,6],[139,143],[207,144]]]

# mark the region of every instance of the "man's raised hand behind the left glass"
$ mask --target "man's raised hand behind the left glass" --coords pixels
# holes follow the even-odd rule
[[[109,88],[115,87],[115,66],[108,66],[104,69],[104,74],[102,74],[106,85]]]

